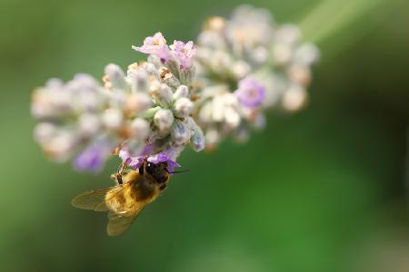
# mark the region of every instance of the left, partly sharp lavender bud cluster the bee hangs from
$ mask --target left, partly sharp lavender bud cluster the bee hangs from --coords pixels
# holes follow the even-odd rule
[[[45,153],[55,160],[74,156],[77,170],[98,171],[112,154],[126,161],[172,151],[171,161],[187,144],[202,151],[203,132],[190,116],[192,43],[174,45],[168,47],[160,33],[146,38],[135,50],[151,53],[150,62],[133,63],[126,73],[106,65],[104,86],[79,74],[71,82],[50,80],[37,89],[32,102],[32,113],[40,120],[35,139]]]

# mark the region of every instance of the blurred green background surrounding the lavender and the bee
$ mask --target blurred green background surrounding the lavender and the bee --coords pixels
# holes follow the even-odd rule
[[[409,271],[409,3],[260,0],[318,44],[308,108],[268,116],[247,144],[184,152],[172,180],[119,238],[74,209],[110,185],[35,144],[31,92],[103,75],[162,31],[195,39],[238,1],[0,0],[0,271]]]

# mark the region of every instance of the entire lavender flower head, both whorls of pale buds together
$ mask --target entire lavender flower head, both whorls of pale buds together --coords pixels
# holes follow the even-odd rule
[[[127,71],[106,65],[103,83],[77,74],[35,90],[35,140],[50,158],[99,171],[115,155],[135,169],[144,159],[167,161],[173,172],[187,145],[202,151],[228,135],[245,140],[264,127],[264,110],[301,108],[318,58],[294,25],[275,25],[247,5],[228,20],[209,19],[196,45],[168,45],[156,33],[132,48],[147,60]]]

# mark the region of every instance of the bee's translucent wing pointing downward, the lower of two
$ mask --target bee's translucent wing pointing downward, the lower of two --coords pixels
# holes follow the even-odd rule
[[[133,212],[120,212],[114,211],[108,212],[108,225],[106,225],[106,233],[109,236],[118,236],[125,232],[132,223],[134,223],[136,217],[145,208],[145,205],[141,206]]]

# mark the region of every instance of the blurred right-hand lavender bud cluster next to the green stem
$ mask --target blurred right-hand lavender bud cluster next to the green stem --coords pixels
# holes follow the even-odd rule
[[[301,44],[299,29],[276,25],[264,9],[242,5],[230,19],[212,17],[198,37],[195,87],[201,90],[198,123],[206,148],[225,136],[248,137],[264,126],[263,112],[299,110],[307,99],[314,44]]]

